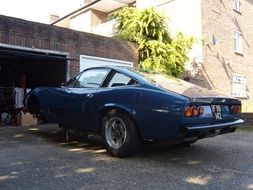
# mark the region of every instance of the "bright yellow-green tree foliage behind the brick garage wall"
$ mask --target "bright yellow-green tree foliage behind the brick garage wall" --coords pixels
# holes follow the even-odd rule
[[[114,35],[139,45],[140,67],[179,77],[188,61],[194,39],[178,33],[170,35],[165,17],[154,9],[125,7],[114,13]]]

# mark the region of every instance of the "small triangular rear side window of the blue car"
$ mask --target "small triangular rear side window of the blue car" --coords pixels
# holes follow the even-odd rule
[[[123,75],[121,73],[116,72],[111,81],[108,84],[108,87],[117,87],[117,86],[125,86],[125,85],[134,85],[137,82],[130,77]]]

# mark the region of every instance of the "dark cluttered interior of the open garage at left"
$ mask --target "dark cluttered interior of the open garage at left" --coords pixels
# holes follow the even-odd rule
[[[66,55],[0,47],[0,126],[36,123],[24,114],[26,94],[40,86],[60,86],[66,76]]]

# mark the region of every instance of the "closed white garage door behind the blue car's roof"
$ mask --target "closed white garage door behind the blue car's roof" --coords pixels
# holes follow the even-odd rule
[[[100,67],[106,65],[133,67],[133,63],[128,61],[80,55],[80,71],[90,67]]]

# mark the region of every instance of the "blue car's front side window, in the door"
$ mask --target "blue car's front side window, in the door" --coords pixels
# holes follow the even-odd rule
[[[103,83],[108,69],[90,69],[84,71],[79,77],[76,88],[98,88]]]

